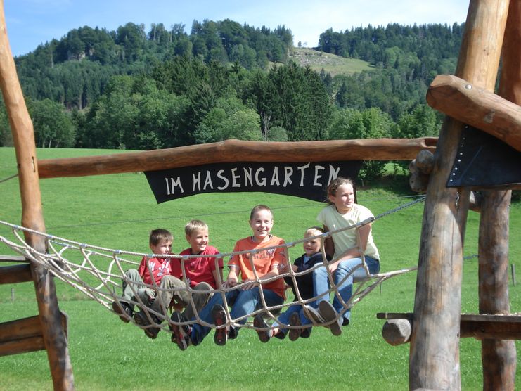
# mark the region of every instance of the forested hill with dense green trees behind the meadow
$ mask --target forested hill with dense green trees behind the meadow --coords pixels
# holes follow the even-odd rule
[[[204,20],[187,34],[127,23],[71,30],[15,62],[38,146],[417,137],[437,135],[425,92],[435,75],[454,72],[462,30],[327,30],[316,56],[303,56],[284,26]],[[7,123],[2,110],[0,145],[11,143]]]

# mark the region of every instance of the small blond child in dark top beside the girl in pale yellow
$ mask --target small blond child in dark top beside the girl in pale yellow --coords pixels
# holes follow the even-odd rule
[[[313,236],[319,236],[323,233],[323,230],[318,226],[312,226],[308,228],[306,232],[304,232],[304,239],[307,239],[302,243],[304,247],[304,254],[295,259],[295,262],[292,264],[293,271],[300,273],[301,271],[306,271],[311,267],[314,267],[317,263],[322,263],[322,252],[321,252],[321,239],[313,238]],[[295,296],[295,301],[297,301],[297,290],[294,286],[294,280],[291,277],[284,277],[284,280],[288,285],[291,286],[293,290],[293,295]],[[297,288],[300,293],[300,297],[302,300],[308,300],[313,297],[313,274],[307,273],[302,274],[302,276],[295,277],[295,281],[297,282]],[[276,337],[279,339],[285,338],[286,333],[288,332],[287,328],[284,328],[281,325],[289,324],[291,326],[301,326],[302,324],[309,324],[308,319],[304,316],[304,311],[302,310],[302,306],[298,303],[290,305],[286,311],[278,316],[276,323],[274,323],[275,328],[271,328],[269,330],[260,330],[260,328],[267,328],[268,325],[264,321],[261,314],[255,315],[253,319],[253,326],[255,326],[257,334],[259,335],[259,340],[262,342],[268,342],[271,337]],[[311,333],[311,328],[291,328],[290,329],[290,340],[297,340],[300,336],[303,338],[308,338]]]

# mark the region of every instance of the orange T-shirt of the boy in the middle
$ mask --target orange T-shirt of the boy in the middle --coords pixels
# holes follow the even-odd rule
[[[259,250],[262,248],[269,248],[276,245],[283,245],[284,241],[281,238],[271,235],[268,241],[257,243],[252,241],[252,236],[237,241],[233,252],[236,251],[247,251],[247,250]],[[252,258],[252,259],[250,259]],[[284,247],[280,248],[269,248],[267,250],[261,250],[254,254],[236,254],[233,255],[228,262],[228,266],[236,265],[238,267],[237,276],[239,275],[243,280],[249,278],[255,278],[253,273],[253,265],[255,265],[255,271],[257,276],[262,277],[264,274],[268,274],[273,267],[278,267],[281,264],[288,264],[288,258],[286,257],[286,251]],[[285,283],[283,278],[278,278],[270,283],[263,283],[262,288],[273,290],[277,295],[284,297]]]

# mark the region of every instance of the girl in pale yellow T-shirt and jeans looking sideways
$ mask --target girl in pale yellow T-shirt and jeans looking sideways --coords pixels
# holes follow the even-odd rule
[[[347,226],[352,226],[356,223],[364,221],[368,217],[373,217],[370,210],[362,205],[354,203],[354,186],[351,179],[337,177],[333,179],[328,186],[328,203],[324,207],[317,219],[324,226],[326,231],[334,231],[342,229]],[[358,233],[357,233],[358,231]],[[357,235],[359,235],[360,242]],[[326,241],[326,245],[328,241]],[[329,243],[330,244],[330,243]],[[380,271],[380,255],[378,249],[373,241],[371,234],[371,224],[361,226],[359,229],[347,229],[333,235],[334,259],[337,259],[332,264],[328,265],[329,270],[333,274],[337,292],[342,297],[344,302],[347,302],[353,291],[353,277],[366,276],[366,272],[359,265],[362,264],[361,250],[364,251],[366,265],[371,274],[376,274]],[[326,247],[326,252],[328,248]],[[353,274],[354,268],[358,267]],[[340,283],[345,278],[345,281]],[[340,335],[342,333],[341,326],[347,326],[351,316],[351,311],[347,309],[342,314],[342,303],[337,295],[333,300],[333,305],[329,302],[329,295],[325,294],[329,290],[329,278],[326,267],[319,267],[313,273],[314,295],[319,296],[313,307],[307,306],[309,316],[313,318],[316,323],[328,323],[333,335]],[[340,284],[340,285],[338,285]],[[316,311],[316,308],[319,311]],[[339,316],[342,314],[342,316]],[[338,321],[335,321],[338,319]]]

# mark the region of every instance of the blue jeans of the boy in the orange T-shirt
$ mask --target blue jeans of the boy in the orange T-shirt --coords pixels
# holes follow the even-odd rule
[[[266,305],[269,307],[274,305],[281,305],[284,302],[284,298],[277,295],[273,290],[263,289],[262,293],[264,293],[264,300],[266,301]],[[231,319],[237,319],[241,316],[245,316],[244,319],[241,319],[238,323],[244,324],[247,321],[247,314],[251,314],[257,309],[262,307],[261,301],[261,293],[259,291],[259,287],[256,286],[250,290],[241,290],[235,289],[226,293],[226,301],[231,305],[230,316]],[[215,293],[213,297],[210,299],[205,307],[199,312],[199,317],[202,321],[207,323],[213,323],[214,319],[212,318],[212,308],[214,305],[219,304],[224,306],[224,301],[221,293]],[[195,317],[192,318],[195,320]],[[199,345],[200,342],[205,338],[208,333],[210,333],[212,328],[202,326],[198,323],[194,323],[192,325],[192,335],[191,339],[193,345]],[[238,333],[238,330],[234,331],[235,336]]]

